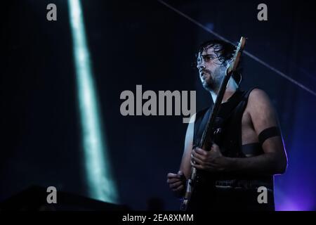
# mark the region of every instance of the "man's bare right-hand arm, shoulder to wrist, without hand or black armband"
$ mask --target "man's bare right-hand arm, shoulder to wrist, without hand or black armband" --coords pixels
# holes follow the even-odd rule
[[[256,134],[278,127],[277,115],[268,95],[260,89],[254,89],[249,96],[249,113]],[[235,172],[282,174],[287,168],[287,156],[281,136],[266,139],[263,154],[249,158],[228,158],[228,170]]]

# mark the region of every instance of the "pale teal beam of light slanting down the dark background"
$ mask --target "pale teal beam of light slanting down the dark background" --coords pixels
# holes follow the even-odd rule
[[[106,141],[103,140],[100,124],[81,4],[79,0],[68,0],[68,6],[88,188],[92,198],[118,203],[117,188],[112,177]]]

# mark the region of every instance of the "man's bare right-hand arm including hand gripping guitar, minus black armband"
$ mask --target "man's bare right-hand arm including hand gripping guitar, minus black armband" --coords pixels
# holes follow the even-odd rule
[[[278,127],[275,110],[268,96],[260,89],[254,89],[249,96],[248,106],[256,134]],[[266,139],[262,145],[263,154],[249,158],[228,158],[220,153],[217,145],[210,151],[197,148],[192,151],[191,165],[209,172],[240,172],[246,174],[282,174],[287,168],[287,156],[281,136]]]

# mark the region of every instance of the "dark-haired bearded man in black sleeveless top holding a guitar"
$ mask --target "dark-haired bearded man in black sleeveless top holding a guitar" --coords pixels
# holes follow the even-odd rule
[[[199,78],[213,103],[235,50],[225,41],[211,40],[197,51]],[[199,172],[187,210],[275,210],[273,175],[287,168],[277,114],[263,90],[242,91],[241,79],[237,70],[228,81],[218,113],[220,134],[211,149],[197,143],[212,107],[188,124],[179,172],[167,175],[173,193],[183,198],[192,167]],[[264,203],[258,201],[259,187],[268,195]]]

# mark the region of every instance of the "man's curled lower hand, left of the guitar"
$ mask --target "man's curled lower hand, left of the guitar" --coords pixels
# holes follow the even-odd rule
[[[179,198],[184,194],[186,180],[182,171],[179,171],[178,174],[167,174],[167,184],[169,184],[171,191]]]

